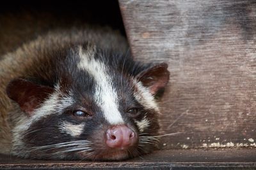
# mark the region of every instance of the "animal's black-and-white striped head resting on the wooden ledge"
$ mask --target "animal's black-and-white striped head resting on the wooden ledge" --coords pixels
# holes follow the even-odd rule
[[[92,45],[35,63],[6,89],[17,105],[14,155],[120,160],[157,146],[156,96],[168,83],[167,64],[134,62],[129,53]]]

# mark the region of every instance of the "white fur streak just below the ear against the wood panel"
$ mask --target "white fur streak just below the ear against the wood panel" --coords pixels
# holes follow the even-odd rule
[[[150,94],[149,90],[144,87],[140,81],[134,80],[133,83],[138,89],[138,92],[134,94],[135,99],[146,109],[154,109],[155,111],[159,112],[157,103],[152,94]]]

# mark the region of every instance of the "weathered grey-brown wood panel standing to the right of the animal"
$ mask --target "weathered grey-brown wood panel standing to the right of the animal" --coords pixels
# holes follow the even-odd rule
[[[255,147],[255,1],[119,3],[134,57],[169,64],[162,148]]]

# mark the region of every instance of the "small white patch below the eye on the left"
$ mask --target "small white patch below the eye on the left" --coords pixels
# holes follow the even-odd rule
[[[84,124],[74,125],[68,122],[61,123],[59,127],[61,132],[67,133],[72,137],[80,136],[84,130]]]

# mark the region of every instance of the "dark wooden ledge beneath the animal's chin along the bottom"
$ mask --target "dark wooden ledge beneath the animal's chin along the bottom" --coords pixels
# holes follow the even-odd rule
[[[118,162],[65,161],[65,160],[25,160],[0,155],[0,168],[19,169],[225,169],[234,167],[255,168],[255,149],[225,150],[161,150],[139,158]],[[238,168],[237,168],[238,169]]]

